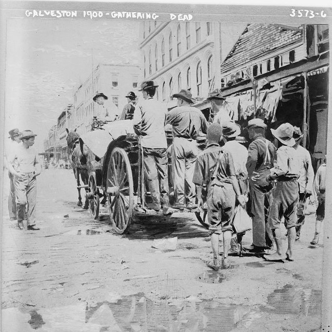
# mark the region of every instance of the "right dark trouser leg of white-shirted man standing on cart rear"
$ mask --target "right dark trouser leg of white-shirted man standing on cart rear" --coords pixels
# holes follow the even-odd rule
[[[164,206],[169,204],[168,188],[168,157],[166,149],[156,149],[156,167],[159,180],[160,202]]]

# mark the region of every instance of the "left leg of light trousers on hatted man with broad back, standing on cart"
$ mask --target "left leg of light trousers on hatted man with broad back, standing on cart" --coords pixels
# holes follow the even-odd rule
[[[175,137],[172,150],[172,174],[175,195],[175,205],[185,204],[184,178],[185,178],[185,157],[181,139]]]

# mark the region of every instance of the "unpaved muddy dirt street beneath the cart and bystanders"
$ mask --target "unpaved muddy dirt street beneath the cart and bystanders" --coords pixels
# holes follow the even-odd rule
[[[193,213],[137,219],[118,235],[106,208],[92,220],[76,206],[71,170],[44,170],[41,230],[19,230],[4,180],[2,332],[320,331],[323,246],[309,247],[315,217],[295,262],[232,256],[230,269],[214,272],[210,239]],[[175,250],[152,247],[165,237],[177,238]]]

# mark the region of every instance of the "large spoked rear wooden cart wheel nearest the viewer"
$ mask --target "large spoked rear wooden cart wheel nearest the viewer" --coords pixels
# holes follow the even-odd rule
[[[124,233],[134,210],[134,182],[129,158],[122,148],[114,148],[107,168],[108,207],[113,227]]]

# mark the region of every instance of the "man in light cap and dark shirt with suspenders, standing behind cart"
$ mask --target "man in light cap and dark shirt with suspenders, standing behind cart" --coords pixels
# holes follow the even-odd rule
[[[254,254],[264,253],[272,247],[272,234],[266,225],[269,209],[269,191],[272,183],[266,181],[273,167],[276,148],[265,139],[266,124],[262,119],[252,119],[247,126],[249,140],[246,168],[249,179],[252,216],[252,245],[244,249]]]

